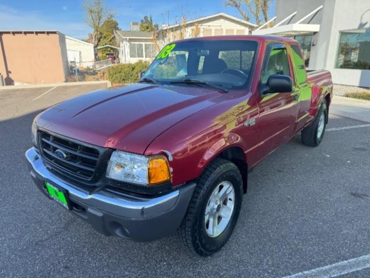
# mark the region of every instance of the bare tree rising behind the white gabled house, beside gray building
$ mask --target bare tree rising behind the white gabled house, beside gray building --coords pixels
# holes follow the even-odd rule
[[[257,25],[261,24],[260,14],[263,19],[269,20],[269,4],[271,0],[226,0],[225,6],[234,7],[246,21],[255,21]],[[251,19],[252,18],[252,19]]]

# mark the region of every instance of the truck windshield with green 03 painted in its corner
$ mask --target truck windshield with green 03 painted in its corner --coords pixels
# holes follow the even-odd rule
[[[203,40],[166,45],[142,76],[163,84],[191,86],[189,80],[225,89],[249,86],[258,43]],[[181,83],[182,80],[186,82]]]

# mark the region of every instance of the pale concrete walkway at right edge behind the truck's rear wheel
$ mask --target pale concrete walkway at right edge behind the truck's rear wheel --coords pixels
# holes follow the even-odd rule
[[[370,123],[370,101],[334,95],[329,113]]]

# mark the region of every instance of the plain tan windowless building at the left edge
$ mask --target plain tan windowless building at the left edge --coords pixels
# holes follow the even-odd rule
[[[0,73],[6,85],[64,82],[66,65],[63,34],[0,32]]]

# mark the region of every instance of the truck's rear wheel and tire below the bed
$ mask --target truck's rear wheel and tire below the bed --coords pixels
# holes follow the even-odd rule
[[[320,145],[326,128],[327,107],[322,103],[313,123],[302,130],[301,138],[303,145],[317,147]]]

